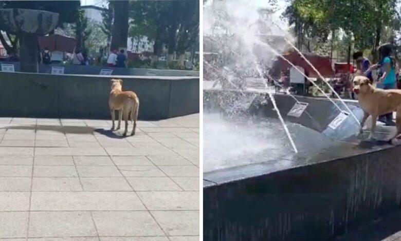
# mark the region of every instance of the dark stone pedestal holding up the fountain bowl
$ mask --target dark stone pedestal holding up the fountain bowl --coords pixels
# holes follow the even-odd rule
[[[21,34],[20,47],[21,72],[38,73],[38,36],[34,34]]]

